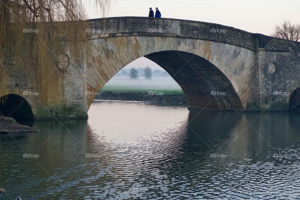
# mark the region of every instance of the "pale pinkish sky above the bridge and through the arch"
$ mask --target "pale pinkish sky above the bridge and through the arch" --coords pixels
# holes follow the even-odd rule
[[[107,17],[148,17],[150,7],[158,7],[166,18],[218,23],[265,35],[270,35],[284,19],[300,22],[300,0],[116,0]],[[101,12],[91,5],[87,12],[90,18],[101,17]],[[140,58],[126,68],[158,68],[147,60]]]

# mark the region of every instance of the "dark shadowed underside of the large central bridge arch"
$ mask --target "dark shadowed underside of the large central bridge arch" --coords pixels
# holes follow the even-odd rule
[[[161,51],[144,57],[157,63],[174,78],[187,95],[190,107],[243,109],[232,83],[206,59],[182,51]]]

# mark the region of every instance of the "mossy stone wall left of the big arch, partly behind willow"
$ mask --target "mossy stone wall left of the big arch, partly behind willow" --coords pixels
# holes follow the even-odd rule
[[[65,67],[66,73],[61,82],[61,93],[56,95],[58,101],[42,103],[38,95],[43,95],[32,88],[32,80],[27,76],[24,66],[17,65],[15,59],[5,59],[6,77],[8,83],[8,92],[6,94],[17,94],[23,97],[31,106],[32,113],[36,119],[53,118],[88,118],[86,104],[86,68],[84,57],[75,59],[71,53],[66,52],[69,60]],[[45,79],[47,82],[47,79]],[[48,82],[47,84],[51,84]],[[38,93],[37,93],[38,92]],[[3,96],[5,94],[1,94]],[[18,105],[16,105],[18,106]]]

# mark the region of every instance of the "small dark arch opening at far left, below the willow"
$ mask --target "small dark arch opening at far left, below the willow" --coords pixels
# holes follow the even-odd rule
[[[0,97],[0,115],[16,120],[33,119],[29,103],[17,94],[7,94]]]

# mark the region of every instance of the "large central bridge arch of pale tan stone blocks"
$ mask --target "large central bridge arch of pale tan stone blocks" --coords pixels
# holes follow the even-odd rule
[[[212,85],[222,82],[218,79],[222,79],[223,83],[228,82],[223,88],[221,87],[221,89],[227,88],[225,91],[232,93],[230,98],[225,99],[227,103],[224,103],[224,99],[222,100],[222,98],[207,98],[206,100],[208,101],[202,98],[198,99],[198,101],[196,99],[191,101],[192,107],[204,107],[203,105],[206,105],[209,99],[212,99],[213,101],[210,108],[230,109],[232,106],[235,109],[244,109],[247,103],[252,100],[252,66],[254,65],[255,55],[252,50],[222,42],[158,36],[107,37],[93,39],[88,42],[91,43],[86,57],[87,91],[90,92],[88,93],[90,95],[87,95],[88,108],[93,102],[96,92],[103,88],[105,83],[127,64],[143,56],[159,63],[159,60],[155,59],[155,54],[153,53],[156,53],[158,56],[159,52],[170,53],[171,51],[173,51],[174,58],[182,58],[182,61],[186,61],[185,66],[191,66],[189,59],[196,57],[198,61],[201,61],[201,64],[208,66],[207,69],[212,70],[212,73],[219,72],[214,81],[213,78],[206,80],[207,82],[212,81]],[[181,53],[179,52],[182,52],[182,55],[180,55]],[[191,54],[194,55],[194,57],[191,56]],[[160,57],[162,57],[162,55],[163,54],[160,54]],[[168,56],[170,55],[171,54]],[[176,57],[174,55],[176,55]],[[184,59],[184,56],[186,56],[187,59]],[[167,68],[166,66],[165,63],[162,67]],[[215,66],[215,69],[212,68],[212,66]],[[191,70],[193,70],[195,74],[201,75],[201,70],[199,72],[192,68]],[[171,68],[167,69],[167,71],[171,76],[176,73],[174,72],[174,74],[172,74]],[[192,80],[193,77],[190,79]],[[178,82],[178,80],[176,81]],[[228,85],[232,86],[232,88],[228,87]],[[197,88],[197,85],[195,85],[194,88]],[[218,89],[216,86],[207,88],[206,94],[209,92],[210,95],[211,91],[209,90],[213,90],[214,88]],[[183,91],[185,92],[184,89]],[[191,93],[190,91],[187,94],[189,99],[192,98],[189,97]],[[233,95],[233,93],[235,93],[236,96]],[[199,96],[197,98],[199,98]]]

